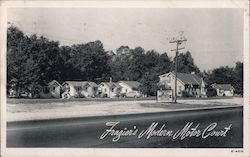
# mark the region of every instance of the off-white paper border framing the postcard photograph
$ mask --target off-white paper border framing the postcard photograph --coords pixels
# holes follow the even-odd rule
[[[248,0],[176,0],[176,1],[0,1],[0,88],[1,88],[1,155],[2,156],[249,156],[249,2]],[[9,7],[56,8],[242,8],[244,9],[244,149],[198,148],[6,148],[6,30]],[[233,142],[233,141],[232,141]],[[242,150],[242,149],[236,149]]]

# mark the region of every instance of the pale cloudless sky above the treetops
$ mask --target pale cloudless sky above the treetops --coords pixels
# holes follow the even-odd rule
[[[60,45],[100,40],[105,50],[121,45],[167,52],[171,38],[184,36],[200,70],[243,61],[243,10],[169,8],[11,8],[8,22],[25,34],[43,35]]]

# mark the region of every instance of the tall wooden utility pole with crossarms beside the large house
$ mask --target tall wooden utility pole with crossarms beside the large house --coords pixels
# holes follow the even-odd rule
[[[187,39],[174,39],[170,41],[169,43],[176,43],[176,49],[173,49],[171,51],[175,51],[175,88],[174,88],[174,102],[177,102],[177,62],[178,62],[178,51],[184,49],[184,47],[179,48],[179,45],[181,45],[182,42],[186,42]]]

